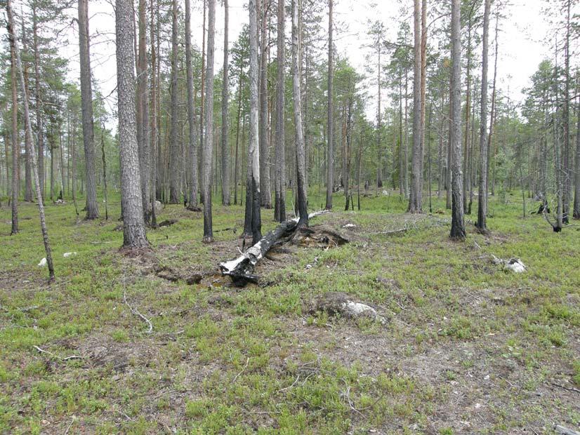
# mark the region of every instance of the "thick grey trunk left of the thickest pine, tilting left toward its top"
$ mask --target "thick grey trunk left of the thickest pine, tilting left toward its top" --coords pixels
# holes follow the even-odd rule
[[[93,88],[88,38],[88,0],[79,0],[79,56],[81,63],[81,107],[86,169],[86,219],[99,217],[95,171],[95,137],[93,131]]]

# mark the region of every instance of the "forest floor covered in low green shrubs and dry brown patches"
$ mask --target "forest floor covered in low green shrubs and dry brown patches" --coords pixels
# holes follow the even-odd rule
[[[0,210],[1,433],[580,429],[580,227],[556,234],[539,215],[522,219],[517,192],[492,198],[491,234],[469,222],[464,243],[449,240],[449,210],[436,198],[437,213],[407,215],[396,195],[345,212],[336,194],[335,211],[311,225],[350,243],[286,246],[245,288],[217,268],[239,255],[242,207],[216,204],[214,229],[237,231],[204,245],[201,213],[167,206],[158,220],[178,222],[148,232],[150,252],[126,255],[114,200],[109,221],[47,206],[51,285],[37,266],[36,206],[22,204],[15,236]],[[272,210],[263,222],[275,226]],[[528,270],[504,272],[492,255]],[[190,285],[194,272],[203,279]],[[387,321],[313,314],[328,291]]]

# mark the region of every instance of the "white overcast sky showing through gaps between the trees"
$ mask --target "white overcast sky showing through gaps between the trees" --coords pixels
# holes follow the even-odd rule
[[[116,60],[114,48],[114,13],[112,0],[89,1],[89,30],[91,32],[91,62],[94,79],[99,83],[103,95],[109,95],[116,86]],[[147,1],[147,4],[149,1]],[[223,62],[223,6],[216,2],[216,71]],[[230,47],[237,39],[248,13],[245,9],[247,0],[230,0]],[[535,71],[543,58],[550,56],[549,46],[543,43],[549,27],[543,18],[541,8],[548,5],[547,0],[510,0],[504,8],[507,18],[501,22],[499,35],[499,86],[504,91],[510,90],[510,97],[522,100],[522,88],[527,86],[529,76]],[[364,72],[366,52],[361,49],[367,43],[367,23],[369,20],[381,19],[388,30],[387,38],[394,40],[400,21],[400,9],[404,6],[411,11],[412,0],[335,0],[335,22],[348,22],[348,30],[337,30],[336,49],[360,72]],[[183,11],[183,0],[180,0]],[[192,40],[197,46],[202,42],[202,1],[192,0]],[[76,11],[71,11],[76,13]],[[289,17],[286,17],[289,18]],[[409,19],[410,19],[409,15]],[[323,27],[327,27],[327,15],[322,17]],[[412,23],[410,23],[412,25]],[[337,26],[343,28],[342,25]],[[286,25],[289,33],[290,25]],[[490,23],[490,39],[493,38],[494,21]],[[79,56],[76,25],[70,32],[70,44],[63,48],[65,57],[70,58],[70,79],[78,81]],[[480,50],[480,48],[478,48]],[[275,52],[275,48],[273,48]],[[490,55],[493,55],[493,40],[490,41]],[[385,59],[388,62],[388,58]],[[490,59],[490,65],[493,65]],[[116,105],[117,95],[112,93],[107,105]],[[371,109],[372,110],[372,109]]]

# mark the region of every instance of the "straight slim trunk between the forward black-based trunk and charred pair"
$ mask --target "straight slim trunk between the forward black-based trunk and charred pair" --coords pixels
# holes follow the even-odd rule
[[[230,8],[228,0],[223,2],[223,88],[222,88],[222,109],[221,109],[221,167],[222,167],[222,204],[230,205],[230,145],[228,144],[228,109],[230,97],[230,60],[228,47],[228,25]]]

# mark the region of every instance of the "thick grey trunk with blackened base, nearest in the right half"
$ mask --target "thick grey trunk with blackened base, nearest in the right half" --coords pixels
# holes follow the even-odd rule
[[[452,0],[452,222],[451,237],[466,238],[461,171],[461,1]]]

